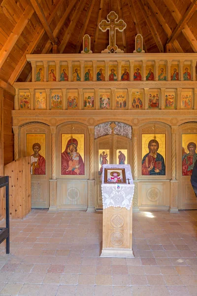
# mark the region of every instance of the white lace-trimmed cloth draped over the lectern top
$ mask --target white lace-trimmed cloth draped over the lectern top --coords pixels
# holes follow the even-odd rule
[[[126,179],[129,178],[131,184],[119,184],[120,189],[117,190],[117,184],[104,184],[104,174],[102,174],[103,176],[101,190],[103,209],[109,207],[121,207],[130,210],[134,194],[134,184],[132,180],[130,165],[104,164],[103,172],[105,168],[124,168],[126,173]]]

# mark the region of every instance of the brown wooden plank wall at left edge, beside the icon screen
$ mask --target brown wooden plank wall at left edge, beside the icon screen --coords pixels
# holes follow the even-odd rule
[[[12,110],[14,96],[0,87],[0,176],[4,165],[14,159],[14,135],[12,131]],[[0,189],[0,220],[4,218],[4,189]]]

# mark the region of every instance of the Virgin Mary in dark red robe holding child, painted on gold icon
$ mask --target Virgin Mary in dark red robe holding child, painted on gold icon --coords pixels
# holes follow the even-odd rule
[[[84,162],[77,147],[77,140],[71,137],[61,155],[62,175],[85,175]]]

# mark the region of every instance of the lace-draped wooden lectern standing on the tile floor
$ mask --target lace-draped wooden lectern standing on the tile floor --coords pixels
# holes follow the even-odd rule
[[[126,171],[126,178],[131,184],[120,184],[120,186],[117,186],[117,183],[105,184],[104,176],[102,176],[103,229],[100,257],[134,257],[131,205],[134,184],[130,165],[103,165],[103,173],[105,173],[105,168],[115,170],[123,167]]]

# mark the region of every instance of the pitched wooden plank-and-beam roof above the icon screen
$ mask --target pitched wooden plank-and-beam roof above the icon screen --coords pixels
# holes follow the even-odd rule
[[[111,10],[127,23],[116,32],[125,53],[138,33],[145,52],[197,52],[197,0],[0,0],[0,79],[30,81],[26,54],[80,53],[85,34],[100,53],[109,32],[98,25]]]

